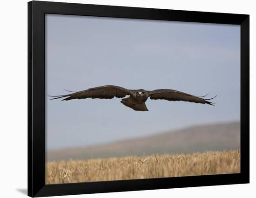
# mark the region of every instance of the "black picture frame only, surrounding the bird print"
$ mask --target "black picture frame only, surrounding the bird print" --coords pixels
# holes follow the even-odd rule
[[[45,185],[45,14],[236,24],[241,27],[241,173]],[[28,2],[28,196],[249,183],[249,15]]]

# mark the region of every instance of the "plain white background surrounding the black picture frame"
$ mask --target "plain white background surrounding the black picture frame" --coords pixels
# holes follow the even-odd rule
[[[252,0],[62,0],[63,2],[250,14],[250,184],[86,195],[88,198],[255,196],[256,6]],[[0,3],[0,197],[25,197],[27,189],[27,1]],[[253,195],[254,194],[254,195]],[[80,198],[85,195],[67,196]]]

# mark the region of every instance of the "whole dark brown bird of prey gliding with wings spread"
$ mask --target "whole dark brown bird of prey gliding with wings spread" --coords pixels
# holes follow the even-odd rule
[[[66,90],[67,91],[67,90]],[[61,96],[51,96],[55,97],[53,99],[63,98],[63,101],[73,100],[73,99],[85,99],[85,98],[100,98],[100,99],[112,99],[114,97],[122,98],[121,103],[125,106],[134,109],[135,111],[148,111],[145,104],[148,98],[152,100],[168,100],[168,101],[187,101],[202,104],[213,105],[213,102],[209,102],[213,98],[204,99],[201,97],[193,96],[181,91],[176,91],[173,89],[156,89],[153,91],[147,91],[144,89],[125,89],[114,85],[105,85],[101,87],[94,87],[86,89],[83,91],[69,91],[73,92],[67,95]],[[127,98],[123,98],[129,96]]]

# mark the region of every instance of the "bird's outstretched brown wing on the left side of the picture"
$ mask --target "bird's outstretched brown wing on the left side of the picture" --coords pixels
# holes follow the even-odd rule
[[[100,99],[112,99],[114,97],[122,98],[126,95],[130,95],[131,90],[125,89],[114,85],[105,85],[101,87],[94,87],[83,91],[74,92],[72,94],[52,96],[51,100],[66,97],[63,100],[72,99],[85,99],[85,98],[100,98]]]

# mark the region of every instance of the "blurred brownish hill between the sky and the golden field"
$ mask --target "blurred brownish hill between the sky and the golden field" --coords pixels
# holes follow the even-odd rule
[[[47,152],[47,160],[142,156],[152,153],[193,153],[237,148],[240,148],[239,121],[194,126],[105,145],[53,150]]]

